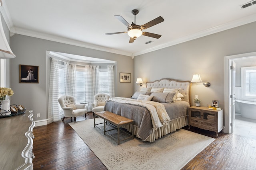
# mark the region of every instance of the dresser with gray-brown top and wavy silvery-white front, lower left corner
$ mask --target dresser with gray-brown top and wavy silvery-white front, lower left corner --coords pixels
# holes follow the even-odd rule
[[[0,119],[0,170],[32,170],[33,111]]]

